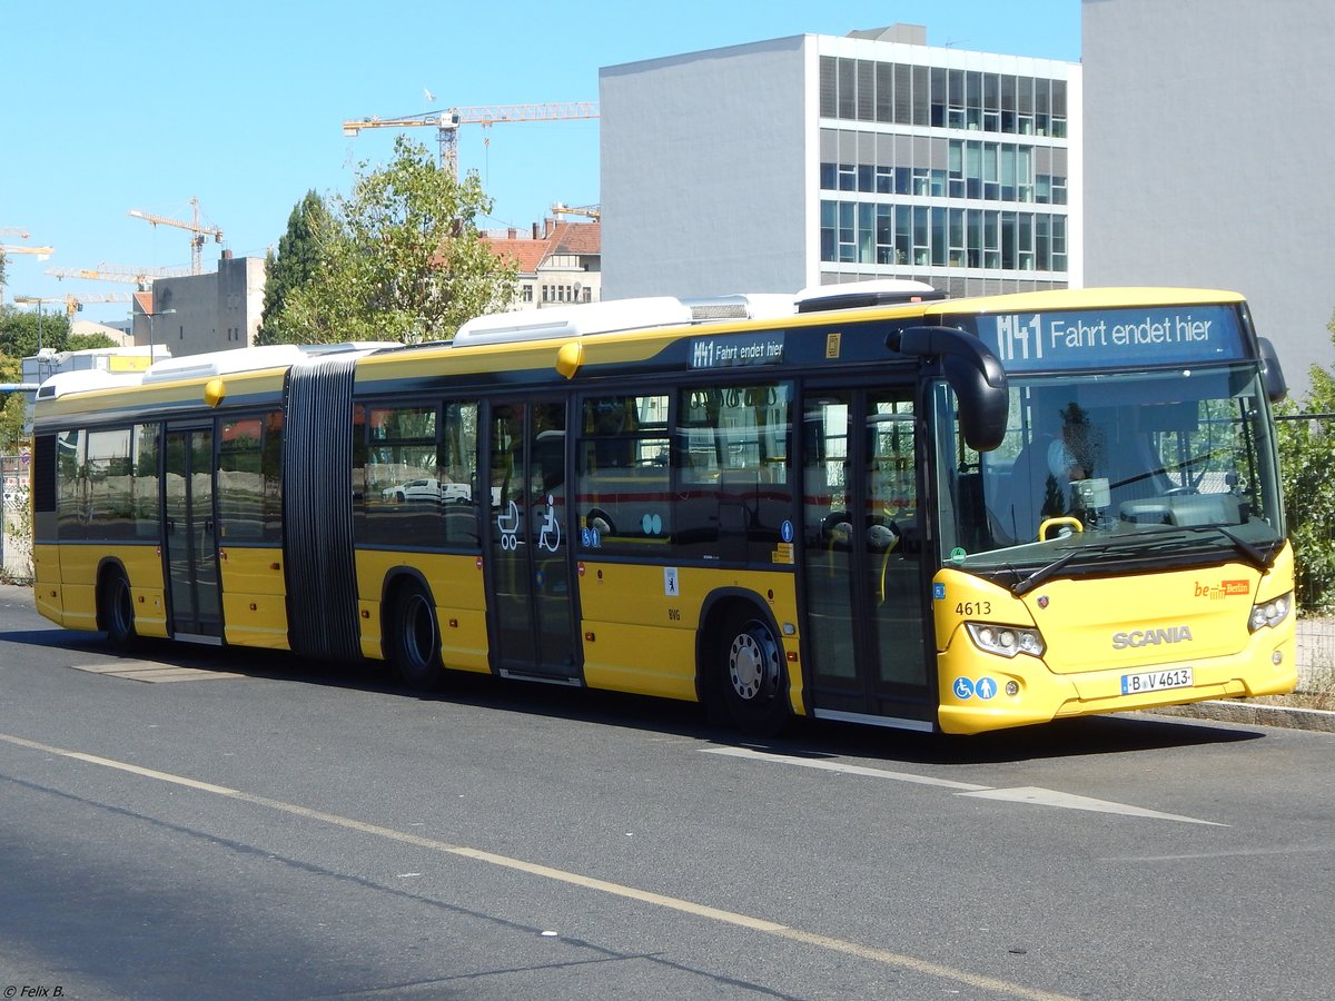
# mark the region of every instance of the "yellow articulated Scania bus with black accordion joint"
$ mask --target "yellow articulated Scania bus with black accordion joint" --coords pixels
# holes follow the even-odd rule
[[[1290,690],[1244,300],[917,283],[77,372],[36,601],[136,637],[979,733]]]

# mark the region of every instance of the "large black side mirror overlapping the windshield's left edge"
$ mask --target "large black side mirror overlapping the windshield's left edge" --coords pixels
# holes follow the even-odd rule
[[[1005,438],[1011,392],[1005,368],[991,348],[953,327],[893,331],[886,347],[918,358],[940,358],[945,380],[960,399],[960,430],[971,448],[988,452]]]

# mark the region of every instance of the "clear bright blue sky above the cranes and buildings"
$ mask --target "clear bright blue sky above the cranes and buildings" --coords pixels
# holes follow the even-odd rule
[[[925,24],[930,45],[1080,59],[1079,0],[0,0],[0,227],[31,234],[0,243],[56,250],[9,255],[5,303],[132,290],[49,267],[188,266],[187,231],[127,214],[190,219],[192,196],[224,247],[263,256],[308,190],[347,192],[390,156],[392,131],[346,139],[344,119],[595,101],[599,67],[896,21]],[[407,135],[435,151],[435,129]],[[495,199],[487,227],[527,228],[553,202],[598,202],[598,123],[465,125],[459,165]]]

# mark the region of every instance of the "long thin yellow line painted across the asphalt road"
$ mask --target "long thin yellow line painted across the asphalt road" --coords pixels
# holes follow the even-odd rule
[[[286,813],[294,817],[304,817],[307,819],[319,821],[322,823],[330,823],[336,827],[343,827],[344,830],[355,830],[362,834],[370,834],[378,838],[386,838],[388,841],[396,841],[405,845],[414,845],[417,848],[426,849],[429,852],[438,852],[442,854],[459,856],[462,858],[471,858],[478,862],[486,862],[489,865],[502,866],[505,869],[513,869],[515,872],[527,873],[529,876],[538,876],[545,880],[553,880],[555,882],[569,884],[571,886],[581,886],[587,890],[595,890],[598,893],[607,893],[614,897],[622,897],[625,900],[637,901],[639,904],[650,904],[653,906],[665,908],[668,910],[676,910],[682,914],[694,914],[696,917],[702,917],[709,921],[717,921],[725,925],[733,925],[736,928],[745,928],[752,932],[761,932],[764,934],[776,936],[778,938],[786,938],[794,942],[802,942],[804,945],[814,945],[820,949],[828,949],[830,952],[842,953],[845,956],[853,956],[860,960],[868,960],[870,962],[878,962],[888,966],[902,966],[910,969],[916,973],[921,973],[928,977],[940,977],[943,980],[951,980],[957,984],[968,984],[969,986],[980,988],[983,990],[991,990],[997,994],[1005,994],[1009,997],[1025,998],[1025,1001],[1076,1001],[1076,998],[1068,997],[1065,994],[1053,994],[1045,990],[1036,990],[1033,988],[1027,988],[1021,984],[1012,984],[1005,980],[997,980],[995,977],[984,977],[977,973],[969,973],[968,970],[955,969],[953,966],[945,966],[937,962],[929,962],[928,960],[918,960],[913,956],[904,956],[902,953],[889,952],[888,949],[876,949],[868,945],[860,945],[858,942],[849,942],[842,938],[832,938],[830,936],[816,934],[813,932],[804,932],[798,928],[790,928],[788,925],[781,925],[774,921],[766,921],[765,918],[752,917],[750,914],[741,914],[734,910],[724,910],[721,908],[710,908],[705,904],[696,904],[689,900],[681,900],[680,897],[668,897],[661,893],[653,893],[651,890],[641,890],[634,886],[626,886],[623,884],[609,882],[607,880],[598,880],[591,876],[582,876],[579,873],[566,872],[565,869],[554,869],[546,865],[538,865],[537,862],[526,862],[522,858],[510,858],[509,856],[498,856],[494,852],[483,852],[482,849],[466,848],[463,845],[451,845],[445,841],[437,841],[434,838],[425,838],[419,834],[410,834],[407,831],[395,830],[394,827],[383,827],[378,823],[366,823],[363,821],[352,819],[351,817],[340,817],[335,813],[326,813],[323,810],[312,810],[307,806],[298,806],[296,803],[283,802],[282,799],[270,799],[264,795],[256,795],[254,793],[246,793],[239,789],[230,789],[228,786],[214,785],[212,782],[200,782],[194,778],[186,778],[184,775],[174,775],[168,771],[156,771],[155,769],[146,769],[139,765],[131,765],[124,761],[115,761],[112,758],[100,758],[96,754],[85,754],[83,751],[67,750],[64,747],[52,747],[47,743],[39,743],[37,741],[28,741],[23,737],[12,737],[9,734],[0,734],[0,741],[12,743],[17,747],[27,747],[29,750],[41,751],[44,754],[55,754],[61,758],[69,758],[72,761],[83,761],[89,765],[100,765],[103,767],[116,769],[117,771],[128,771],[132,775],[142,775],[144,778],[151,778],[159,782],[170,782],[171,785],[184,786],[187,789],[196,789],[202,793],[210,793],[212,795],[227,797],[228,799],[238,799],[240,802],[247,802],[254,806],[263,806],[270,810],[276,810],[279,813]]]

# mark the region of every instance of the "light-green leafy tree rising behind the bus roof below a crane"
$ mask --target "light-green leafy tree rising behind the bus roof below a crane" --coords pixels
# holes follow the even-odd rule
[[[459,180],[400,136],[394,160],[370,172],[363,164],[328,227],[314,227],[314,276],[284,294],[275,326],[295,343],[454,336],[514,299],[514,267],[478,231],[490,211],[475,174]]]

